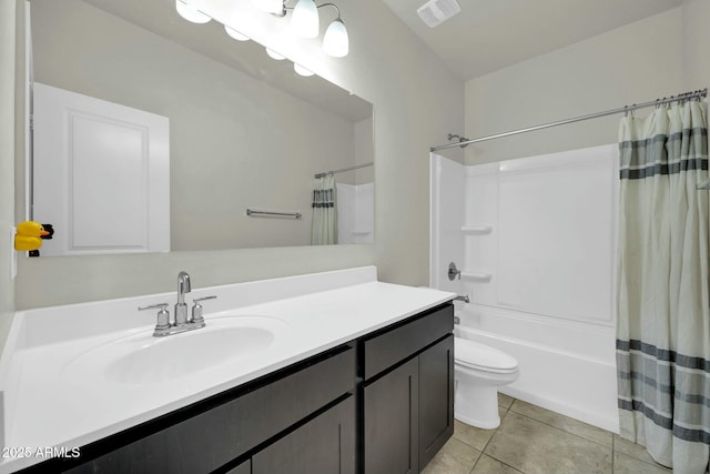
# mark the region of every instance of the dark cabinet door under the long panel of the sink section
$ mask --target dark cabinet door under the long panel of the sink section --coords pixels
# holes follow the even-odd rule
[[[252,474],[355,474],[351,396],[252,456]]]

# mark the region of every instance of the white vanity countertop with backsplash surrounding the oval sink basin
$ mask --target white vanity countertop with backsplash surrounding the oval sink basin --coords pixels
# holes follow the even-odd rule
[[[193,288],[196,284],[193,281]],[[151,341],[155,313],[139,313],[136,307],[162,302],[172,306],[174,293],[18,313],[0,361],[6,424],[0,473],[44,461],[34,455],[38,448],[80,447],[455,296],[378,282],[374,266],[200,289],[186,302],[210,294],[217,300],[203,303],[207,327],[211,320],[216,326],[220,316],[236,315],[274,317],[285,330],[253,357],[161,383],[112,382],[100,375],[101,367],[68,376],[67,366],[79,354],[126,334]],[[12,452],[20,456],[8,457]]]

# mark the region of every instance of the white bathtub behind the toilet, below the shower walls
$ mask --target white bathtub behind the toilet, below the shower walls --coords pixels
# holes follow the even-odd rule
[[[618,433],[615,329],[456,303],[456,335],[515,356],[519,379],[500,392]]]

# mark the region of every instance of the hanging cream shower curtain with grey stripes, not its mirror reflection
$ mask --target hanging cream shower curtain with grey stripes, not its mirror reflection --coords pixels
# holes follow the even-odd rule
[[[617,375],[621,436],[676,473],[710,444],[708,129],[686,101],[619,129]]]

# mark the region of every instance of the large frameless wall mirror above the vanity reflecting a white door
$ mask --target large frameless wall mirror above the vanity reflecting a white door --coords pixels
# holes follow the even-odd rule
[[[308,245],[315,175],[351,169],[334,243],[372,242],[372,104],[174,6],[31,0],[40,254]]]

